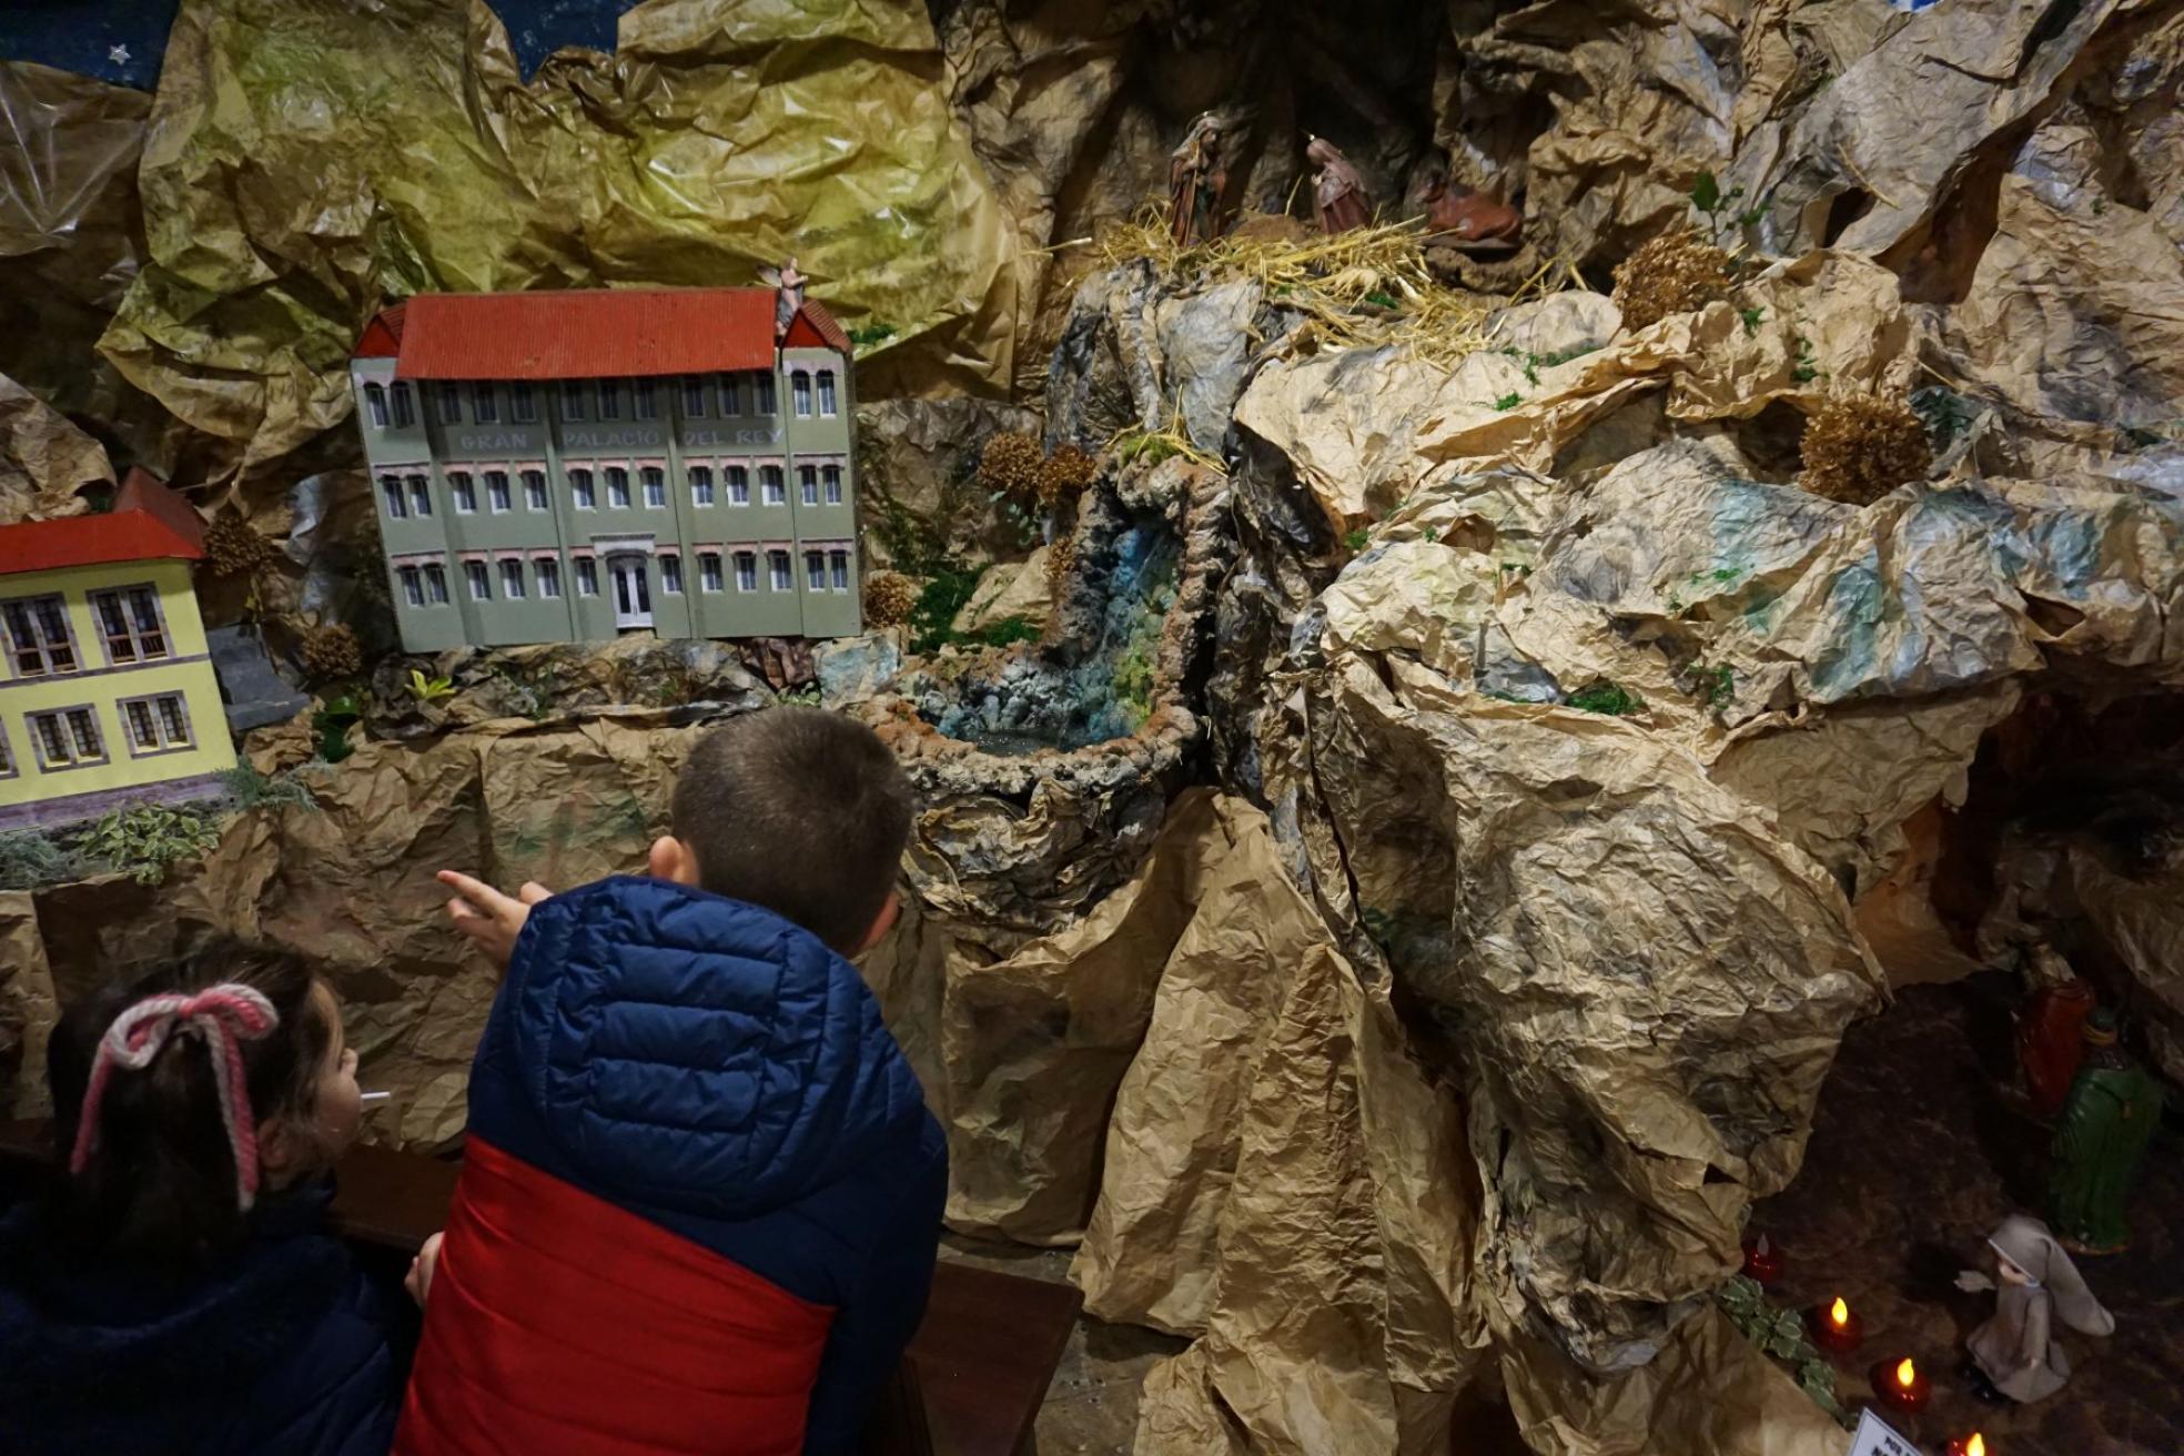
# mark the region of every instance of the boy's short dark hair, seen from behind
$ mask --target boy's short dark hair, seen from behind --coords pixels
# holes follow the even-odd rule
[[[911,838],[911,784],[863,723],[767,707],[699,738],[675,779],[673,832],[699,886],[793,919],[856,954]]]

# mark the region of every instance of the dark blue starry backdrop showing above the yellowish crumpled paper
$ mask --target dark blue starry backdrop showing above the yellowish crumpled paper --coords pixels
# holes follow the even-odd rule
[[[494,0],[524,79],[561,46],[614,50],[614,22],[638,0]],[[0,0],[0,59],[39,61],[149,92],[179,0]]]

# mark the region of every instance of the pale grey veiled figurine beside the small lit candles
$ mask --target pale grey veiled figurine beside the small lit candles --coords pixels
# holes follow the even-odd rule
[[[2001,1288],[1994,1314],[1966,1340],[1983,1395],[2031,1404],[2062,1391],[2070,1360],[2055,1340],[2062,1321],[2079,1334],[2110,1336],[2116,1316],[2086,1288],[2077,1264],[2038,1218],[2014,1214],[1990,1238]],[[1985,1275],[1959,1275],[1957,1288],[1996,1288]]]

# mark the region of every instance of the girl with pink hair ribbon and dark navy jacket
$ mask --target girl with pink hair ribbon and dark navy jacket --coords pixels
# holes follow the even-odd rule
[[[0,1222],[0,1410],[26,1452],[384,1456],[395,1303],[323,1231],[356,1054],[295,956],[216,945],[79,1002],[66,1168]]]

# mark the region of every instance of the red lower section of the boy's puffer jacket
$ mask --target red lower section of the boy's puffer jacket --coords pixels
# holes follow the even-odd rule
[[[472,1137],[395,1454],[797,1456],[832,1316]]]

